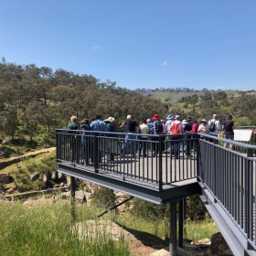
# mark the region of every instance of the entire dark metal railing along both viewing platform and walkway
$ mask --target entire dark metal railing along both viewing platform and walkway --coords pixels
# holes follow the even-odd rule
[[[223,146],[223,145],[226,145]],[[256,146],[197,133],[57,130],[57,161],[158,191],[197,179],[256,251]]]

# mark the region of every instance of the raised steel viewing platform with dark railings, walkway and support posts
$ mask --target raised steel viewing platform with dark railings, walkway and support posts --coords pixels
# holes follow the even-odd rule
[[[177,203],[197,194],[234,255],[256,255],[256,145],[206,134],[181,134],[178,140],[125,136],[57,130],[59,172],[73,182],[77,177],[155,204],[169,202],[171,255],[176,255]],[[72,182],[70,189],[74,193]],[[182,246],[183,208],[178,212]]]

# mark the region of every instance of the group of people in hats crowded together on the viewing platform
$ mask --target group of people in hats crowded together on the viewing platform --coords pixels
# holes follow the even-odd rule
[[[191,147],[193,146],[196,150],[196,144],[192,143],[193,137],[196,138],[195,133],[205,133],[212,136],[218,136],[221,130],[225,133],[225,138],[233,140],[234,139],[234,132],[233,126],[234,123],[232,121],[232,116],[229,115],[227,120],[225,121],[224,125],[221,126],[219,123],[219,116],[218,114],[214,114],[212,119],[207,121],[206,119],[202,119],[200,123],[197,123],[197,120],[192,119],[192,117],[188,116],[186,120],[181,121],[179,115],[173,116],[168,114],[166,117],[166,122],[161,120],[157,113],[155,113],[152,118],[148,118],[143,120],[140,124],[138,124],[131,114],[127,115],[125,122],[122,125],[118,126],[115,123],[115,119],[113,117],[109,117],[105,120],[101,120],[100,115],[96,115],[93,120],[89,121],[89,119],[83,119],[81,123],[78,123],[76,116],[71,116],[70,122],[68,125],[69,130],[84,130],[84,131],[95,131],[95,132],[109,132],[111,136],[117,136],[117,132],[119,128],[125,128],[125,140],[122,148],[122,154],[127,155],[130,150],[130,143],[131,143],[131,154],[134,156],[136,155],[136,139],[139,139],[139,155],[146,156],[147,150],[147,141],[150,139],[153,143],[153,155],[157,155],[159,153],[159,146],[165,147],[165,142],[163,141],[162,144],[157,143],[159,140],[160,134],[168,134],[170,136],[166,136],[167,140],[172,141],[174,146],[169,146],[169,151],[172,151],[172,154],[178,158],[179,154],[179,140],[181,138],[180,134],[183,134],[183,138],[187,140],[186,144],[186,155],[187,158],[192,157],[190,155]],[[149,136],[149,135],[153,136]],[[205,139],[203,135],[202,138]],[[192,140],[191,140],[192,139]],[[85,139],[86,140],[86,137]],[[166,140],[166,139],[165,139]],[[217,144],[217,140],[208,139],[209,141]],[[189,141],[189,143],[188,143]],[[196,140],[194,140],[196,142]],[[82,144],[84,142],[81,142]],[[171,144],[171,143],[170,143]],[[163,148],[162,148],[163,149]],[[165,148],[164,148],[165,149]],[[113,160],[114,154],[111,154],[111,160]]]

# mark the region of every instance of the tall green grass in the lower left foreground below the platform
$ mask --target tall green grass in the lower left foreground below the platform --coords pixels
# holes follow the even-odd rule
[[[123,240],[112,241],[105,234],[99,234],[98,240],[81,240],[73,229],[69,208],[69,201],[62,200],[33,207],[1,201],[0,255],[129,255],[128,245]],[[85,206],[76,211],[82,220],[95,215]]]

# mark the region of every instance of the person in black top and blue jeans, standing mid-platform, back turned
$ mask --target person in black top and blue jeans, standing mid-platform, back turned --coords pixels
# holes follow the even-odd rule
[[[135,120],[133,120],[132,115],[128,114],[126,121],[121,125],[121,128],[125,126],[126,135],[125,135],[125,141],[123,145],[123,155],[127,155],[129,151],[129,142],[131,141],[132,144],[132,155],[135,156],[136,154],[136,144],[135,139],[137,133],[137,127],[138,124]]]

